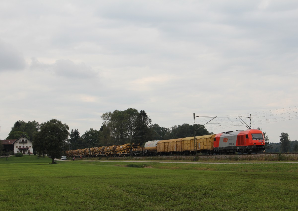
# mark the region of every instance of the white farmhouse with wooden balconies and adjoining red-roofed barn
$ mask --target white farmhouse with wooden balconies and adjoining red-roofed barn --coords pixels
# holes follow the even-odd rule
[[[21,135],[18,139],[1,140],[5,151],[21,152],[23,154],[31,154],[33,152],[32,141],[25,135]]]

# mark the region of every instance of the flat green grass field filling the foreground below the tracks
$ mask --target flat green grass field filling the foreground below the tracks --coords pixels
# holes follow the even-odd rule
[[[298,210],[298,163],[0,158],[1,210]]]

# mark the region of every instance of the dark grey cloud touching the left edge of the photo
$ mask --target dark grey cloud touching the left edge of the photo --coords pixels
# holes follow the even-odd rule
[[[0,71],[22,70],[25,66],[23,55],[12,45],[0,40]]]

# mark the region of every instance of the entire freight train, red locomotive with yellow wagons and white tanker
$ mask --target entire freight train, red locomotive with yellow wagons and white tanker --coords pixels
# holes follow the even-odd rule
[[[195,141],[196,139],[196,141]],[[196,143],[196,148],[195,148]],[[164,156],[164,155],[195,155],[207,154],[235,154],[261,153],[265,151],[265,140],[262,131],[249,129],[228,131],[219,134],[169,139],[154,140],[140,144],[112,145],[95,148],[86,148],[66,151],[66,156],[71,157],[108,157],[108,156]]]

